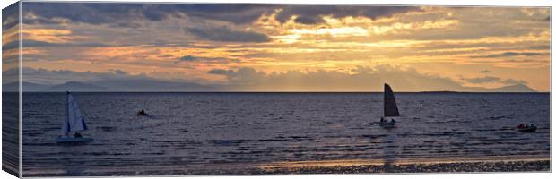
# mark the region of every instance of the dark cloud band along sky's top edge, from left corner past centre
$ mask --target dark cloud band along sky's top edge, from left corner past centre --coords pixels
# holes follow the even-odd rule
[[[275,13],[278,21],[297,16],[300,23],[322,22],[323,15],[334,17],[365,16],[376,19],[395,13],[421,11],[416,6],[350,6],[350,5],[282,5],[282,4],[117,4],[117,3],[25,3],[25,12],[33,18],[25,23],[61,23],[56,18],[91,24],[118,23],[135,20],[164,21],[170,17],[195,17],[203,20],[230,21],[245,24],[263,14]],[[64,9],[64,11],[59,11]]]

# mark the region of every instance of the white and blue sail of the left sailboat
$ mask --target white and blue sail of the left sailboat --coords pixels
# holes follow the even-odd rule
[[[79,110],[77,106],[77,102],[75,101],[72,94],[69,92],[66,93],[67,98],[67,108],[66,108],[66,115],[65,115],[65,123],[62,126],[62,133],[67,134],[68,132],[78,132],[87,130],[87,125],[85,124],[85,119],[83,118],[83,114]]]

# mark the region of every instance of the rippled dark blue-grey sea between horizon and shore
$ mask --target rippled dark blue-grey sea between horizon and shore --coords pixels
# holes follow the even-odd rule
[[[550,158],[550,93],[72,93],[94,141],[60,145],[65,93],[22,96],[22,175],[219,174],[301,161]],[[148,116],[138,116],[144,109]],[[536,132],[518,132],[518,124]]]

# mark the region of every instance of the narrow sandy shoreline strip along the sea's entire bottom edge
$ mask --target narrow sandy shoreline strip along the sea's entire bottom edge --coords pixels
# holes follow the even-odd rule
[[[82,170],[83,169],[83,170]],[[54,173],[23,173],[33,176],[126,176],[126,175],[319,175],[319,174],[408,174],[408,173],[471,173],[471,172],[550,172],[550,158],[468,159],[455,161],[401,161],[373,160],[300,161],[269,164],[225,164],[213,166],[158,166],[146,168],[120,168],[121,170]],[[75,168],[73,168],[75,170]]]

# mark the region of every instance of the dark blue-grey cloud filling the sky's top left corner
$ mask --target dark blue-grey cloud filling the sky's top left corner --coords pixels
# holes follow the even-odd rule
[[[118,3],[25,3],[23,20],[27,24],[56,24],[66,19],[90,24],[121,23],[128,21],[164,21],[185,15],[199,19],[248,23],[263,13],[274,11],[274,5],[249,4],[118,4]],[[59,11],[64,9],[64,11]],[[126,25],[126,24],[124,24]],[[136,25],[136,24],[135,24]]]

